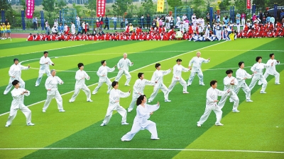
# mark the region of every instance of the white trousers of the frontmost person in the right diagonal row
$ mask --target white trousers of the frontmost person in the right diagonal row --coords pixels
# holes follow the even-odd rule
[[[212,105],[212,106],[207,106],[205,107],[205,112],[204,114],[200,117],[200,121],[197,122],[197,124],[203,124],[209,117],[209,114],[212,112],[212,110],[216,114],[216,122],[215,124],[219,124],[221,119],[222,119],[222,110],[218,105]]]

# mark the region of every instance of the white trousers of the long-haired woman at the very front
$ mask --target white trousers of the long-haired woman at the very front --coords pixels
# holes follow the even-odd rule
[[[151,139],[158,139],[158,133],[157,133],[157,127],[155,126],[155,122],[151,122],[151,124],[148,124],[148,126],[145,127],[148,131],[151,133]],[[131,139],[138,133],[138,131],[143,130],[143,128],[137,124],[136,122],[133,123],[133,126],[131,128],[131,131],[129,131],[127,134],[122,136],[121,140],[124,141],[131,141]]]

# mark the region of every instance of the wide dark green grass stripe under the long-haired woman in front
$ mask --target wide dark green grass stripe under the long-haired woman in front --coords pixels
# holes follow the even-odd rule
[[[263,45],[257,49],[265,49],[271,44]],[[256,53],[256,52],[255,52]],[[258,52],[260,56],[266,57],[267,52]],[[236,67],[237,62],[244,59],[254,59],[255,54],[251,52],[246,52],[238,57],[234,57],[220,65],[223,68]],[[268,58],[263,58],[263,61],[267,61]],[[283,59],[283,54],[277,54],[277,59]],[[254,62],[253,62],[254,63]],[[253,63],[247,62],[246,64],[251,66]],[[234,64],[234,66],[232,65]],[[215,66],[212,69],[219,69],[219,66]],[[284,66],[280,65],[277,70],[283,71]],[[246,69],[248,72],[249,69]],[[219,81],[218,88],[222,90],[224,85],[222,83],[223,78],[226,76],[224,73],[226,70],[215,70],[215,71],[204,71],[204,83],[207,86],[198,86],[198,78],[195,76],[195,80],[192,86],[188,88],[190,91],[190,98],[184,98],[184,95],[180,95],[180,90],[182,87],[180,85],[176,86],[173,92],[170,93],[171,96],[175,95],[175,102],[164,103],[161,102],[160,110],[155,112],[155,115],[151,117],[157,124],[158,135],[161,138],[160,141],[151,141],[151,134],[146,131],[140,131],[133,140],[130,142],[121,142],[121,136],[126,134],[131,129],[131,126],[119,126],[118,123],[121,121],[121,116],[119,114],[114,114],[111,118],[111,122],[107,126],[99,126],[99,123],[93,124],[92,126],[78,131],[66,139],[62,139],[52,145],[49,148],[185,148],[192,141],[195,141],[199,136],[201,136],[207,129],[210,129],[215,122],[214,112],[209,116],[207,122],[202,124],[202,129],[196,128],[196,122],[200,119],[205,108],[205,96],[206,90],[209,88],[209,81],[212,79],[217,79]],[[236,69],[234,69],[236,71]],[[267,78],[268,81],[274,80],[272,76]],[[246,83],[250,83],[246,81]],[[260,86],[253,88],[252,93],[255,93]],[[242,90],[239,93],[239,99],[244,102],[245,95]],[[163,93],[159,93],[155,100],[163,101]],[[253,99],[252,99],[253,100]],[[177,102],[178,101],[178,102]],[[226,102],[226,106],[223,108],[223,117],[231,112],[232,104],[229,101]],[[128,121],[132,122],[135,117],[136,112],[131,112],[128,114]],[[217,134],[218,135],[218,134]],[[206,142],[206,141],[204,141]],[[38,158],[40,156],[69,156],[68,154],[74,151],[45,151],[40,150],[27,155],[25,158]],[[77,151],[76,151],[77,152]],[[165,155],[160,155],[165,153]],[[160,151],[143,151],[141,153],[137,151],[84,151],[84,156],[92,156],[95,154],[94,158],[173,158],[179,152],[160,152]],[[80,158],[82,153],[72,153],[72,158]],[[150,156],[150,157],[149,157]]]

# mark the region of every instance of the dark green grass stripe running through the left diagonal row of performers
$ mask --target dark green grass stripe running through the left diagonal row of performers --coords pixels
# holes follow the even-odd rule
[[[96,49],[103,49],[106,47],[105,43],[107,42],[102,42],[100,44],[96,44]],[[121,45],[124,44],[129,44],[129,42],[119,42]],[[118,45],[119,43],[115,43],[115,42],[110,42],[110,46],[113,45]],[[197,45],[187,45],[189,44],[188,42],[181,42],[179,43],[179,47],[176,47],[176,44],[173,45],[166,45],[163,47],[162,50],[173,50],[173,47],[175,48],[175,51],[184,51],[184,50],[195,50],[201,47],[206,47],[208,45],[207,42],[200,42],[197,43]],[[214,43],[210,43],[210,44],[214,44]],[[102,46],[101,46],[102,45]],[[108,45],[109,46],[109,45]],[[80,49],[82,49],[80,47]],[[94,48],[93,48],[94,49]],[[84,50],[82,50],[84,51]],[[146,66],[148,64],[153,64],[155,61],[160,61],[163,59],[168,59],[170,57],[174,57],[178,54],[182,54],[184,52],[165,52],[165,53],[161,53],[161,48],[155,48],[155,49],[149,49],[147,51],[143,51],[143,53],[137,52],[136,54],[129,54],[129,59],[131,59],[131,61],[134,62],[134,65],[130,67],[130,71],[134,70],[134,69],[138,69],[141,68],[142,66]],[[153,53],[153,52],[158,52],[157,54]],[[57,52],[54,52],[54,54],[56,54]],[[81,52],[78,52],[81,53]],[[65,54],[65,53],[63,53]],[[56,54],[57,55],[57,54]],[[61,55],[61,54],[60,54]],[[66,54],[67,55],[67,54]],[[121,59],[121,57],[116,57],[113,59],[107,59],[107,64],[108,66],[114,66],[115,64],[117,64],[117,62],[119,61],[119,59]],[[143,60],[141,60],[143,59]],[[173,62],[175,61],[175,59],[173,59]],[[69,71],[77,71],[77,63],[74,64],[74,68],[70,69]],[[87,64],[84,66],[84,70],[85,71],[97,71],[99,69],[99,66],[101,66],[100,62],[94,62],[92,64]],[[155,65],[153,64],[153,69],[155,68]],[[97,76],[97,73],[88,73],[90,78],[92,79],[91,81],[87,81],[87,85],[91,85],[92,83],[97,83],[99,81],[99,77]],[[109,73],[109,78],[115,77],[117,74],[117,69],[114,73]],[[57,74],[57,76],[59,76],[64,82],[65,84],[63,86],[59,86],[59,90],[60,93],[67,93],[70,92],[72,90],[74,90],[74,86],[75,86],[75,72],[59,72]],[[151,74],[147,75],[148,78],[151,78]],[[46,90],[44,87],[44,83],[46,80],[47,76],[44,75],[43,79],[40,83],[40,86],[35,88],[35,81],[37,78],[33,78],[31,80],[25,81],[26,82],[26,88],[28,90],[31,91],[31,93],[33,93],[34,95],[31,95],[29,98],[26,98],[25,100],[25,104],[26,105],[31,105],[35,102],[39,102],[41,100],[45,100],[46,98]],[[135,80],[136,76],[134,76],[132,78],[132,80]],[[7,81],[8,82],[8,81]],[[6,86],[2,86],[0,87],[0,90],[5,90]],[[104,90],[99,90],[99,91],[104,91]],[[0,114],[4,113],[4,112],[9,112],[10,110],[10,104],[11,104],[11,94],[9,93],[8,95],[2,95],[3,96],[3,101],[6,102],[2,102],[3,105],[1,105],[0,107]]]

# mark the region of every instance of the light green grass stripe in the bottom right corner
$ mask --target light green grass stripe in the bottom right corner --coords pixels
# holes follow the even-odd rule
[[[284,71],[280,72],[284,76]],[[241,151],[280,151],[284,152],[284,119],[283,119],[283,85],[275,85],[275,78],[268,82],[267,94],[257,90],[251,99],[253,102],[241,101],[241,112],[230,112],[222,119],[224,126],[212,126],[187,148],[208,150],[241,150]],[[284,83],[284,78],[280,78]],[[240,93],[243,93],[240,90]],[[232,104],[225,105],[232,107]],[[214,115],[212,112],[211,115]],[[249,129],[248,129],[249,127]],[[202,127],[196,127],[202,129]],[[182,151],[175,158],[284,158],[283,153],[242,153],[242,152],[186,152]],[[242,156],[242,157],[241,157]]]

